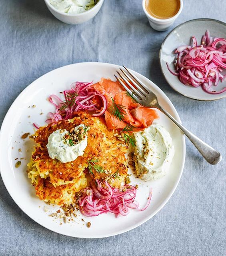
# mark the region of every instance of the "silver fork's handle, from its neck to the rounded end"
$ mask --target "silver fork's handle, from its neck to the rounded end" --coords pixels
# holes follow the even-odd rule
[[[218,151],[214,148],[206,144],[204,141],[200,140],[197,136],[195,136],[192,132],[187,130],[182,124],[180,124],[177,120],[175,120],[166,110],[159,107],[160,111],[162,111],[168,118],[170,118],[178,128],[189,138],[189,140],[194,144],[194,146],[198,149],[198,151],[202,154],[202,156],[206,159],[206,161],[210,164],[218,164],[222,157]]]

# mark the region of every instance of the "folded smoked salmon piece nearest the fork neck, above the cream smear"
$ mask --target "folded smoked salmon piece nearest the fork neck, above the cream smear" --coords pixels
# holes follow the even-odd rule
[[[153,120],[158,118],[157,112],[152,108],[145,108],[139,106],[130,110],[130,114],[139,120],[144,127],[148,127],[152,124]]]

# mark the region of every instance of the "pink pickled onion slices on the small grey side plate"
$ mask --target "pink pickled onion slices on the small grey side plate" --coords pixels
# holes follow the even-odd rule
[[[226,87],[216,91],[211,90],[211,86],[226,80],[226,75],[222,74],[223,69],[226,69],[226,39],[213,38],[208,30],[202,36],[200,45],[197,45],[195,36],[191,39],[192,46],[179,46],[174,51],[177,54],[175,70],[166,63],[168,70],[185,85],[201,86],[210,94],[225,92]]]

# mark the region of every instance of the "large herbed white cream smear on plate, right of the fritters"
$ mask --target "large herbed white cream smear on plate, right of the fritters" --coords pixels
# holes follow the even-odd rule
[[[152,124],[141,132],[134,132],[134,138],[137,175],[143,180],[162,178],[174,156],[174,146],[169,132],[160,125]]]

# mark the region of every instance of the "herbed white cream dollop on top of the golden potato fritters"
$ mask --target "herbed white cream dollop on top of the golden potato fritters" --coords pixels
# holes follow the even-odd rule
[[[85,128],[83,124],[80,124],[74,130],[78,130],[80,127]],[[65,135],[67,134],[68,131],[66,129],[56,130],[50,134],[48,144],[46,145],[50,158],[56,158],[62,163],[74,161],[78,156],[82,156],[87,146],[88,137],[86,134],[84,134],[82,140],[73,145],[70,145],[68,140],[65,140]]]

